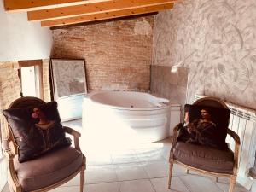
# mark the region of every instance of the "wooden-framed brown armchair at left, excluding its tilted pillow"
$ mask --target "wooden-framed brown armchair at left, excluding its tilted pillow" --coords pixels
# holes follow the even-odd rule
[[[9,109],[28,108],[44,104],[36,97],[22,97],[12,102]],[[73,136],[73,147],[53,149],[25,162],[18,161],[19,146],[15,135],[6,122],[6,135],[3,139],[3,152],[8,161],[8,183],[10,192],[49,191],[71,180],[80,172],[80,192],[84,189],[85,156],[79,148],[80,133],[69,127],[63,130]]]

